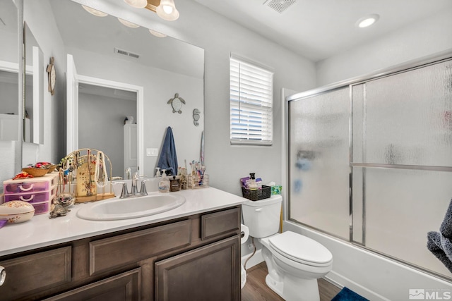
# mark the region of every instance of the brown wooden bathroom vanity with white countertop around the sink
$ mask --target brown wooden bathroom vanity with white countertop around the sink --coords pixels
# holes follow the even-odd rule
[[[78,204],[68,216],[5,226],[1,299],[240,300],[244,199],[215,188],[180,193],[181,207],[138,219],[87,221]]]

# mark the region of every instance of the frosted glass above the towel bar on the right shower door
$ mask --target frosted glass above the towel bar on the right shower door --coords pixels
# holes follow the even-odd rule
[[[452,166],[452,62],[369,81],[365,163]]]

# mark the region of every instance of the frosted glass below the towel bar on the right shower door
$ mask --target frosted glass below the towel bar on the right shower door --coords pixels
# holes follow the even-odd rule
[[[365,168],[364,176],[365,245],[450,277],[427,250],[427,232],[439,231],[452,196],[452,173]]]

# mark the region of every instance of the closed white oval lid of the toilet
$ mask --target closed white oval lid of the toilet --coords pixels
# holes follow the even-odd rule
[[[291,231],[275,235],[269,242],[276,252],[302,264],[326,266],[333,260],[333,254],[319,242]]]

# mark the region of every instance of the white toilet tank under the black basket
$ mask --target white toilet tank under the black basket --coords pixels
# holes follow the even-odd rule
[[[242,204],[243,221],[249,228],[249,235],[254,238],[265,238],[278,233],[282,202],[283,197],[280,195],[244,202]]]

